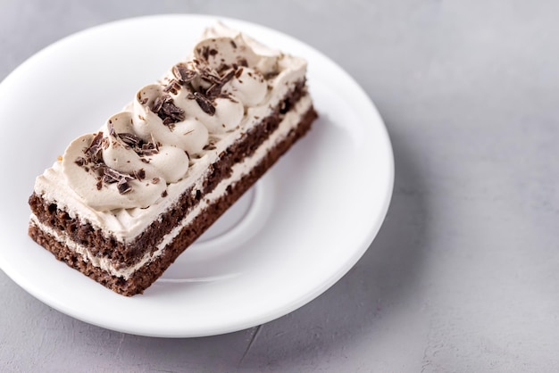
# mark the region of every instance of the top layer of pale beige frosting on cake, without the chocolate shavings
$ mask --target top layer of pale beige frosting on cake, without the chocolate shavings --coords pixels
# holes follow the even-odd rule
[[[86,170],[76,163],[84,157],[84,149],[96,134],[71,142],[63,161],[55,162],[37,178],[35,192],[71,215],[75,211],[80,220],[94,228],[129,242],[176,203],[188,187],[194,186],[193,193],[202,188],[208,166],[238,137],[268,116],[296,82],[305,78],[306,69],[304,60],[267,49],[221,24],[206,30],[204,36],[195,47],[195,58],[207,55],[208,64],[219,68],[223,68],[221,58],[248,64],[242,70],[238,68],[237,75],[221,87],[221,93],[229,96],[220,95],[213,101],[213,115],[192,98],[193,87],[209,85],[197,76],[191,87],[181,86],[168,92],[184,117],[171,126],[163,124],[152,108],[156,98],[164,94],[163,87],[171,82],[169,73],[160,83],[141,88],[123,112],[113,115],[100,128],[104,137],[100,141],[101,156],[106,166],[129,176],[138,176],[142,171],[142,178],[126,180],[131,188],[128,193],[119,192],[118,183],[100,183],[98,171],[91,167]],[[215,54],[213,49],[217,46],[221,49]],[[182,63],[196,69],[195,62]],[[122,134],[127,133],[144,145],[156,145],[157,152],[134,151],[123,139]]]

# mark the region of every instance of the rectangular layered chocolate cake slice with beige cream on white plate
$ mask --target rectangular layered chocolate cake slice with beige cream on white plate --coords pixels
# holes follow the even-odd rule
[[[306,62],[221,23],[36,179],[29,236],[124,294],[142,293],[317,117]]]

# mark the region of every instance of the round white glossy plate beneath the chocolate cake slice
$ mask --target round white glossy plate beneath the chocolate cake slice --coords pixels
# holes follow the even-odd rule
[[[240,203],[145,294],[114,294],[27,236],[35,177],[73,137],[99,128],[159,79],[216,17],[163,15],[88,29],[29,58],[0,85],[0,267],[76,319],[145,336],[211,336],[310,302],[367,250],[392,194],[394,162],[374,105],[338,65],[278,31],[223,19],[309,62],[320,119]]]

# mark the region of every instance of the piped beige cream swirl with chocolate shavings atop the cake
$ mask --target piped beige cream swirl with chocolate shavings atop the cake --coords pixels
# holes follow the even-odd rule
[[[205,36],[192,58],[66,149],[63,174],[93,209],[157,203],[187,177],[191,156],[209,152],[211,136],[242,128],[245,113],[265,102],[281,54],[221,24]]]

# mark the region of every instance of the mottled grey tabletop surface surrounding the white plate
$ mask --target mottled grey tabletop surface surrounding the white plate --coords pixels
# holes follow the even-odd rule
[[[279,29],[359,80],[394,145],[387,220],[325,294],[225,336],[93,327],[0,271],[1,371],[559,370],[559,3],[0,0],[0,79],[75,31],[165,12]]]

